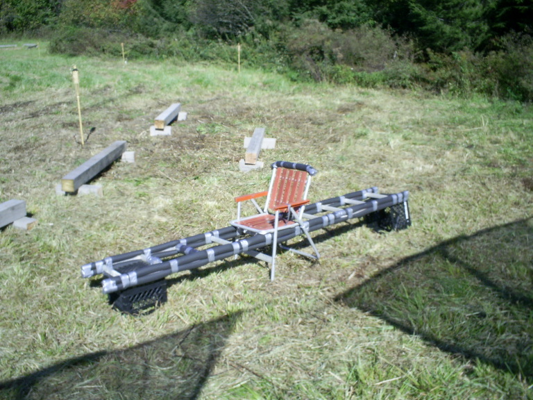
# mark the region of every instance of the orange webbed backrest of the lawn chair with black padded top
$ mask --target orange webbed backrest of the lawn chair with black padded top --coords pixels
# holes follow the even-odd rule
[[[316,169],[310,165],[276,161],[272,164],[272,177],[265,212],[287,203],[307,199],[311,176]]]

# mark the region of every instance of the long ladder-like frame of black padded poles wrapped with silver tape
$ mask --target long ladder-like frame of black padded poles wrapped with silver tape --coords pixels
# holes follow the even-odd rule
[[[323,213],[321,206],[339,207],[346,206],[345,199],[364,201],[364,203],[357,203],[346,208],[339,208],[335,212],[326,215],[317,216],[303,222],[303,225],[308,232],[316,231],[326,226],[339,224],[348,219],[363,217],[378,210],[394,206],[398,203],[404,203],[409,198],[409,192],[399,192],[397,194],[387,194],[379,199],[367,199],[367,194],[378,193],[378,188],[370,188],[367,190],[360,190],[344,194],[344,196],[333,197],[317,203],[312,203],[305,208],[305,215],[314,215]],[[287,242],[291,238],[298,235],[303,235],[304,231],[299,225],[294,228],[287,228],[278,231],[276,244]],[[244,236],[243,239],[235,240],[239,236]],[[228,244],[220,244],[218,246],[210,247],[209,249],[197,250],[196,247],[201,247],[205,244],[211,244],[210,238],[221,238],[223,240],[235,240]],[[105,274],[109,276],[102,281],[103,293],[112,293],[119,290],[124,290],[135,285],[142,285],[162,279],[170,274],[186,271],[189,269],[196,269],[212,263],[217,260],[223,260],[231,256],[236,256],[239,253],[246,253],[246,251],[260,249],[261,247],[273,244],[274,234],[267,233],[265,235],[257,234],[253,236],[245,235],[245,233],[233,226],[210,231],[200,235],[194,235],[189,238],[174,240],[158,246],[150,247],[149,249],[131,251],[129,253],[112,256],[95,263],[83,265],[81,267],[82,276],[88,278],[96,274]],[[187,253],[188,252],[188,253]],[[160,261],[161,258],[168,258],[175,256],[178,253],[185,253],[185,255],[172,258],[171,260]],[[146,265],[149,260],[157,260],[156,262]],[[142,263],[142,268],[135,271],[124,272],[120,274],[117,269],[131,264]],[[113,272],[112,274],[110,272]]]

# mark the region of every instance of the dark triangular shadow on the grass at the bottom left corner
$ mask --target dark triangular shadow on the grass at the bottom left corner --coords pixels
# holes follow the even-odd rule
[[[129,349],[65,360],[0,383],[0,398],[197,399],[241,314]]]

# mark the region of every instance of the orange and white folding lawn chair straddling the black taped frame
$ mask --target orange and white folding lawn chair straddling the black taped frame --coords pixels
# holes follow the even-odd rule
[[[316,260],[320,258],[319,251],[316,249],[302,219],[305,205],[309,203],[307,192],[311,183],[311,176],[315,174],[316,169],[310,165],[276,161],[276,163],[272,164],[272,177],[268,191],[235,197],[235,201],[237,201],[237,219],[230,222],[232,226],[239,228],[244,234],[273,234],[271,255],[260,253],[259,251],[246,251],[248,255],[271,264],[271,281],[274,280],[276,272],[278,232],[283,229],[294,228],[294,225],[298,224],[302,231],[301,234],[305,235],[315,255],[279,244],[282,249]],[[264,208],[260,208],[255,200],[260,197],[267,197]],[[257,214],[242,217],[242,203],[244,201],[251,201],[257,210]]]

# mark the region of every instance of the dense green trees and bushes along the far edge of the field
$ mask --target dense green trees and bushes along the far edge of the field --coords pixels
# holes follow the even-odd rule
[[[235,62],[294,79],[533,100],[533,0],[2,0],[59,53]]]

